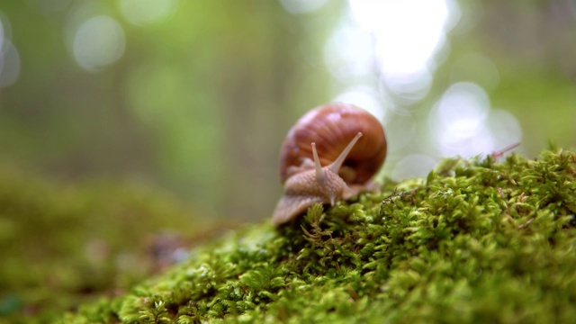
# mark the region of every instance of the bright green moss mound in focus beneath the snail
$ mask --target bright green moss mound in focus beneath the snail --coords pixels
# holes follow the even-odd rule
[[[571,322],[575,177],[573,152],[447,159],[220,239],[61,322]]]

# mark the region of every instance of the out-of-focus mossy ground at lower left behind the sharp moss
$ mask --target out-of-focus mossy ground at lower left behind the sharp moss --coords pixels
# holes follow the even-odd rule
[[[0,323],[49,320],[157,273],[161,253],[205,228],[190,210],[143,185],[58,184],[1,166]]]

